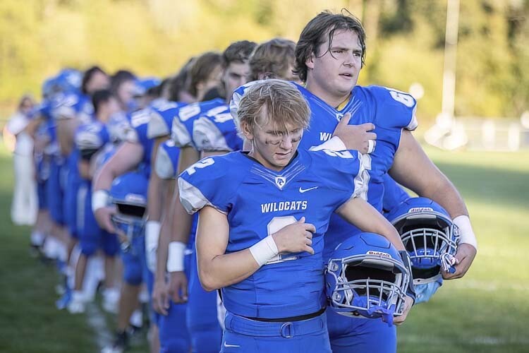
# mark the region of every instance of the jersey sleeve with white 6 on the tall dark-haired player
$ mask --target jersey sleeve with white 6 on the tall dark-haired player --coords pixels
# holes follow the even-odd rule
[[[417,101],[412,95],[381,86],[370,86],[369,90],[377,105],[375,125],[404,128],[409,131],[417,128],[418,121],[415,116]]]

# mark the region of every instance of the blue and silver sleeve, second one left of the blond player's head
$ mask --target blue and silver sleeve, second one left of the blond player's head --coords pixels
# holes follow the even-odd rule
[[[202,114],[211,114],[212,109],[217,109],[224,104],[220,98],[206,102],[188,104],[180,109],[178,116],[171,126],[171,138],[178,147],[193,146],[193,125]]]

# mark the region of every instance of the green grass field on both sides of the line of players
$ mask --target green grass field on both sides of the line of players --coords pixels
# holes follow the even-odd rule
[[[529,152],[427,152],[465,198],[480,249],[466,277],[411,311],[399,352],[529,352]],[[87,317],[54,308],[57,276],[28,255],[30,229],[11,224],[3,146],[0,170],[0,352],[97,352]]]

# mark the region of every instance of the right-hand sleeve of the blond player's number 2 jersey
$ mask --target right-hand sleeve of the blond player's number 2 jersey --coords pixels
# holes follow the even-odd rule
[[[337,208],[350,198],[366,198],[367,170],[363,155],[356,150],[311,150],[312,168],[329,189],[336,191]]]

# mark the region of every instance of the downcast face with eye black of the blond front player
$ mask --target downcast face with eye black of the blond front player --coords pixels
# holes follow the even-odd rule
[[[255,126],[246,136],[252,143],[250,155],[265,167],[277,171],[292,160],[302,137],[302,127],[292,124],[276,126],[271,121]]]

